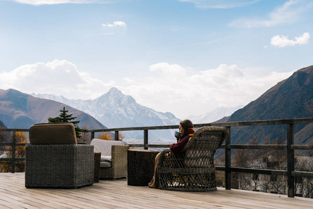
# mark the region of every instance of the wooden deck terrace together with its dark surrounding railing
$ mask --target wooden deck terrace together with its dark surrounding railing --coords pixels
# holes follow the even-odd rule
[[[127,179],[100,180],[89,187],[79,189],[26,189],[24,173],[15,173],[15,164],[23,162],[24,157],[15,156],[18,146],[25,144],[15,141],[17,132],[28,132],[26,129],[1,130],[12,134],[10,143],[0,146],[11,147],[10,158],[0,158],[0,162],[10,162],[11,173],[0,173],[0,208],[312,208],[313,199],[295,195],[296,178],[313,178],[313,171],[298,171],[295,168],[295,150],[313,150],[313,145],[294,144],[293,125],[313,123],[313,118],[297,118],[271,121],[243,121],[231,123],[197,124],[202,126],[223,126],[229,132],[221,149],[224,150],[225,166],[216,167],[224,173],[225,188],[219,187],[217,192],[175,192],[149,187],[129,186]],[[255,125],[287,125],[287,144],[231,144],[231,128]],[[149,144],[149,130],[176,129],[178,125],[158,127],[123,127],[106,130],[84,130],[90,132],[91,139],[95,132],[115,132],[115,140],[119,140],[119,132],[142,130],[143,144],[130,144],[131,147],[168,148],[168,144]],[[231,164],[231,150],[284,150],[287,155],[287,167],[282,170],[242,168]],[[266,192],[250,192],[231,189],[231,175],[234,172],[259,173],[271,176],[287,177],[287,194],[271,194]],[[296,197],[294,197],[296,196]],[[292,197],[292,198],[290,198]]]

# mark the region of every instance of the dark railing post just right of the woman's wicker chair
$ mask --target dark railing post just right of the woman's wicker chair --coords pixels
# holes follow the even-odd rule
[[[227,137],[225,138],[225,189],[231,189],[231,127],[227,126]]]

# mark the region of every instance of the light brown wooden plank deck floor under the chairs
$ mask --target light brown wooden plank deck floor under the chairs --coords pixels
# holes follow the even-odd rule
[[[313,208],[313,199],[218,188],[174,192],[100,180],[79,189],[26,189],[24,173],[0,173],[0,208]]]

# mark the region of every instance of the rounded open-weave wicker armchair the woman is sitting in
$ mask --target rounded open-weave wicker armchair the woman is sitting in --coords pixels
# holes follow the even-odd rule
[[[159,188],[180,191],[215,191],[214,154],[227,131],[224,127],[202,127],[178,155],[169,149],[160,156]]]

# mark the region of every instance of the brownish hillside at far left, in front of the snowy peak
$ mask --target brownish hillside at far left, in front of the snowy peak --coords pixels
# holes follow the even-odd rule
[[[36,98],[14,89],[0,90],[0,120],[8,128],[29,128],[34,123],[47,123],[47,118],[59,116],[63,107],[66,107],[68,114],[77,117],[79,127],[88,125],[89,129],[105,128],[92,116],[66,104]]]

